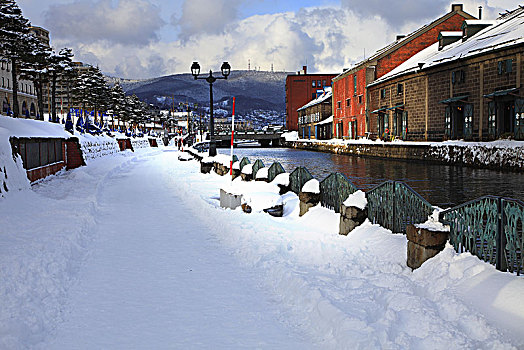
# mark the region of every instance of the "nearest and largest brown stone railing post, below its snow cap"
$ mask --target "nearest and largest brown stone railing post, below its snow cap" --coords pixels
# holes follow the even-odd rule
[[[422,225],[408,225],[406,235],[408,238],[407,264],[415,270],[444,249],[449,231],[425,228]]]

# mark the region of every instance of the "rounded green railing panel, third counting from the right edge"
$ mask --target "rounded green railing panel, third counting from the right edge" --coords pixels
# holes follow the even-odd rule
[[[356,191],[357,188],[348,180],[346,175],[332,173],[320,183],[320,203],[323,207],[340,213],[342,203],[344,203],[350,194]]]

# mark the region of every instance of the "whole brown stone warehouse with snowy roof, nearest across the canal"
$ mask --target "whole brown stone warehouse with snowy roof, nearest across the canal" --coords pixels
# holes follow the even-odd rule
[[[524,8],[414,55],[368,86],[370,130],[413,141],[524,140]]]

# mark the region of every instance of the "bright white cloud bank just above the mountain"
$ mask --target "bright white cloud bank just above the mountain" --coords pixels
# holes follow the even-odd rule
[[[225,0],[218,0],[225,1]],[[477,6],[484,7],[484,18],[495,18],[502,10],[492,6],[495,0],[463,1],[464,9],[476,15]],[[223,61],[232,68],[261,67],[269,70],[296,71],[308,65],[309,72],[341,72],[395,39],[397,34],[412,32],[451,9],[451,2],[436,10],[431,18],[407,21],[397,28],[379,14],[361,14],[347,7],[301,9],[268,15],[255,15],[222,23],[221,29],[195,30],[195,34],[172,42],[150,41],[141,46],[97,41],[55,41],[57,47],[74,49],[77,59],[99,63],[109,74],[126,78],[147,78],[189,72],[194,60],[202,71],[218,71]],[[186,32],[188,35],[189,32]],[[88,60],[89,58],[89,60]]]

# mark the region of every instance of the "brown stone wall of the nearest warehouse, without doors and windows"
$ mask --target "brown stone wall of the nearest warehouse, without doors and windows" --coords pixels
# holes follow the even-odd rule
[[[441,101],[467,95],[465,103],[473,105],[472,139],[492,140],[493,137],[488,134],[488,103],[492,100],[484,95],[496,90],[521,87],[524,75],[522,57],[522,47],[505,49],[372,85],[368,88],[369,109],[374,111],[404,103],[404,109],[408,112],[408,140],[443,141],[446,139],[446,104]],[[498,62],[506,59],[513,60],[513,72],[498,74]],[[451,74],[460,70],[464,71],[465,80],[453,84]],[[521,73],[517,74],[519,70]],[[398,83],[404,84],[403,95],[395,93]],[[386,89],[386,98],[381,98],[381,89]],[[515,95],[523,98],[524,91],[517,91]],[[391,120],[392,112],[387,113]],[[372,136],[378,136],[377,114],[370,115],[370,131]]]

